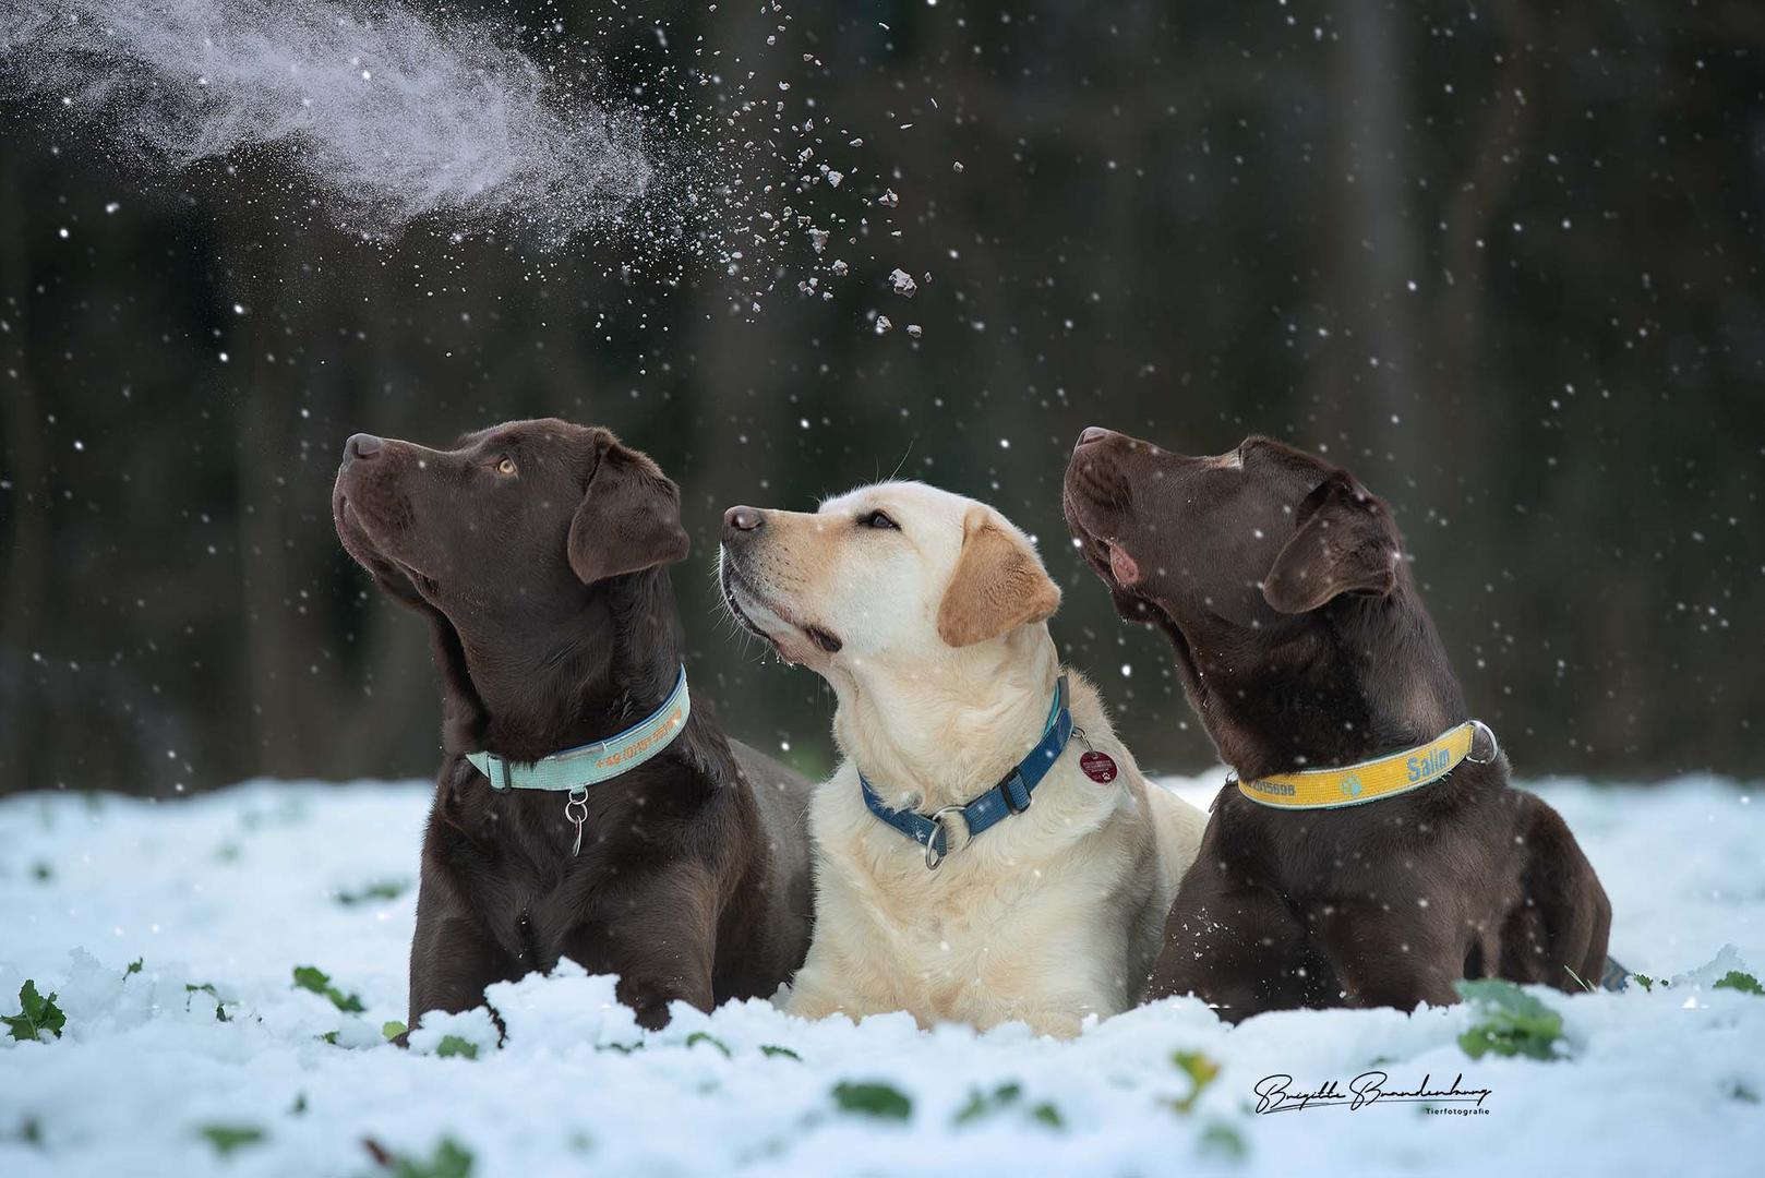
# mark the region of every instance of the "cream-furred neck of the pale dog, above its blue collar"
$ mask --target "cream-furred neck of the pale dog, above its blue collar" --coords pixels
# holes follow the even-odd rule
[[[930,675],[860,664],[830,676],[833,736],[891,807],[960,805],[1041,736],[1059,673],[1045,623],[967,646]]]

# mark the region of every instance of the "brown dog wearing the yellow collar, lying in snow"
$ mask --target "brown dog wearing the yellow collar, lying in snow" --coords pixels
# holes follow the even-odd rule
[[[1184,457],[1091,427],[1063,500],[1117,611],[1170,638],[1241,782],[1359,768],[1467,719],[1391,512],[1348,472],[1264,438]],[[1149,996],[1243,1019],[1442,1005],[1467,977],[1599,982],[1611,910],[1594,869],[1507,786],[1490,735],[1472,742],[1444,777],[1368,804],[1283,809],[1228,782]]]

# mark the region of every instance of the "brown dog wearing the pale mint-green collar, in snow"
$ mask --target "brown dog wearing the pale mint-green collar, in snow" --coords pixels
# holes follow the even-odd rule
[[[683,638],[665,565],[687,533],[657,464],[561,420],[452,450],[355,434],[332,514],[374,583],[429,620],[441,673],[409,1024],[560,957],[618,973],[644,1026],[676,998],[710,1010],[789,980],[808,948],[808,782],[725,740],[704,703],[572,814],[563,793],[496,791],[466,759],[524,766],[671,698]]]

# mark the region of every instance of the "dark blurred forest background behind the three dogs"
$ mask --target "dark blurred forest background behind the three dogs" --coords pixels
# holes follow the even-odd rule
[[[717,616],[720,512],[897,466],[1041,539],[1144,765],[1213,763],[1066,542],[1098,422],[1352,466],[1521,775],[1765,774],[1765,7],[477,7],[595,41],[614,101],[687,78],[658,23],[745,55],[867,140],[849,191],[897,189],[902,237],[833,300],[780,256],[736,314],[692,258],[623,276],[651,245],[616,233],[365,240],[291,215],[275,152],[161,175],[0,106],[0,791],[432,772],[427,638],[339,549],[337,457],[542,413],[681,482],[695,689],[810,772],[831,699]]]

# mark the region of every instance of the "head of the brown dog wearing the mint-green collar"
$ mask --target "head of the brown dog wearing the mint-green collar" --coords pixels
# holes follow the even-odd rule
[[[450,740],[468,738],[491,696],[535,710],[549,685],[526,682],[531,662],[581,645],[577,631],[605,613],[588,609],[597,595],[687,556],[680,489],[660,468],[607,429],[556,419],[447,450],[355,434],[332,519],[374,583],[434,625]],[[477,676],[468,652],[485,655]],[[510,682],[489,682],[498,675]]]

